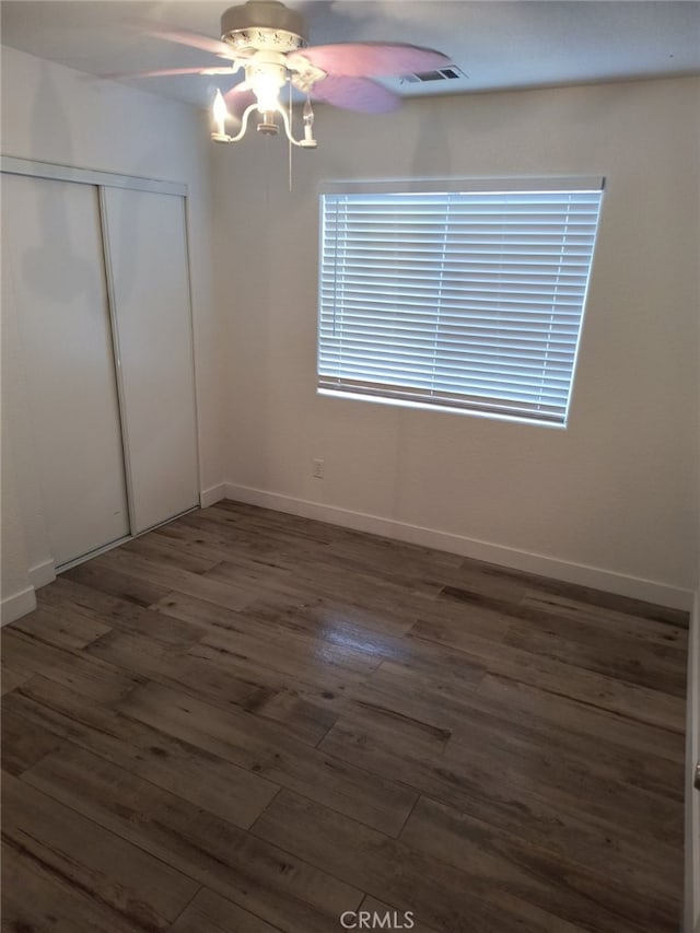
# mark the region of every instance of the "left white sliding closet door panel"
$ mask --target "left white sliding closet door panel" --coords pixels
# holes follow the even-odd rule
[[[60,567],[129,534],[97,188],[3,175],[2,266]]]

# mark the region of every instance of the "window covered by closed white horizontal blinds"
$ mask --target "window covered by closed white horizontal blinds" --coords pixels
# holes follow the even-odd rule
[[[602,179],[328,186],[318,390],[564,424],[602,193]]]

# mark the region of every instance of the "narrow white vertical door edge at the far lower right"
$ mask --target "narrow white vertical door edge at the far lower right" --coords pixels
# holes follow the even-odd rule
[[[696,593],[688,640],[688,722],[686,728],[686,896],[684,930],[700,929],[700,791],[692,786],[700,759],[700,591]]]

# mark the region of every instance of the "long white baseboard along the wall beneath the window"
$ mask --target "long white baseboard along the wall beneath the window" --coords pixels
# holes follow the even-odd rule
[[[352,512],[348,509],[339,509],[335,505],[325,505],[319,502],[311,502],[306,499],[296,499],[292,495],[283,495],[277,492],[268,492],[249,486],[238,486],[226,482],[225,498],[246,502],[249,505],[261,505],[266,509],[276,509],[279,512],[289,512],[301,515],[304,518],[316,518],[319,522],[328,522],[331,525],[341,525],[358,532],[369,532],[399,541],[407,541],[421,547],[435,548],[436,550],[457,553],[462,557],[470,557],[489,563],[497,563],[513,570],[522,570],[526,573],[535,573],[541,576],[550,576],[565,583],[575,583],[580,586],[590,586],[594,590],[603,590],[607,593],[616,593],[620,596],[629,596],[633,599],[643,599],[660,606],[673,609],[690,610],[692,608],[693,594],[690,590],[670,586],[654,580],[644,580],[637,576],[627,576],[597,567],[588,567],[583,563],[570,563],[547,557],[546,555],[530,553],[515,548],[493,545],[448,532],[440,532],[435,528],[424,528],[420,525],[409,525],[397,522],[394,518],[382,518],[378,515],[368,515],[363,512]]]

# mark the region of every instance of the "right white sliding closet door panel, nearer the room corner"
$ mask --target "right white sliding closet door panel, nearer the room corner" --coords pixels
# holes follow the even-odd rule
[[[136,534],[199,501],[185,201],[102,196]]]

